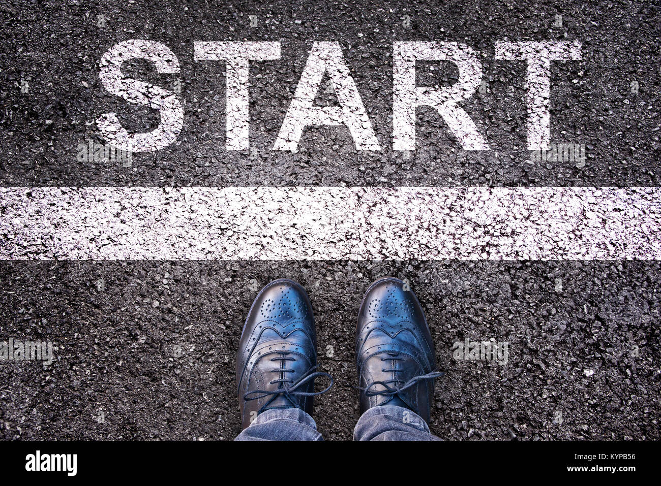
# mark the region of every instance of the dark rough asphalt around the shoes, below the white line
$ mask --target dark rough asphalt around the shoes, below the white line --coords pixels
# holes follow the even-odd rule
[[[56,349],[46,370],[0,363],[0,436],[233,438],[245,316],[263,285],[290,277],[309,293],[320,369],[336,380],[314,417],[325,438],[350,439],[358,306],[369,283],[394,275],[420,298],[447,372],[434,433],[659,439],[660,271],[635,261],[2,262],[0,335]],[[510,343],[506,365],[452,358],[455,341],[492,337]]]

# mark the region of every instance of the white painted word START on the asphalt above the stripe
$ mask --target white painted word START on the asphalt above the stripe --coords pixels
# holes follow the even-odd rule
[[[496,59],[527,63],[527,148],[549,145],[549,71],[551,61],[581,59],[578,42],[496,42]],[[184,110],[176,94],[163,87],[124,77],[122,63],[145,59],[159,73],[178,73],[179,62],[164,44],[127,40],[116,44],[100,60],[100,80],[111,94],[128,102],[158,110],[153,131],[129,133],[115,113],[102,114],[97,126],[110,145],[128,152],[151,152],[175,143],[184,125]],[[249,63],[280,59],[280,42],[194,42],[196,61],[225,61],[227,150],[249,146]],[[459,79],[451,86],[416,86],[416,61],[450,61]],[[338,106],[316,106],[315,96],[327,76]],[[415,150],[415,116],[418,106],[438,111],[447,127],[467,151],[488,150],[470,116],[459,105],[481,85],[482,64],[469,46],[457,42],[395,42],[393,44],[393,149]],[[297,151],[305,127],[344,125],[357,150],[381,147],[366,114],[338,42],[314,42],[290,102],[273,150]]]

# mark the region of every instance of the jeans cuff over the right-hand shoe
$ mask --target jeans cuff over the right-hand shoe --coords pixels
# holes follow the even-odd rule
[[[354,440],[440,440],[422,417],[404,407],[383,405],[365,411],[354,429]]]

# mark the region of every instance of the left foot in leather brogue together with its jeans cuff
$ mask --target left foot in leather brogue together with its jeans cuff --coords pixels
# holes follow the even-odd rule
[[[315,392],[320,376],[331,384]],[[273,281],[255,298],[239,340],[237,384],[238,440],[321,440],[310,414],[332,378],[317,371],[315,318],[297,283]]]

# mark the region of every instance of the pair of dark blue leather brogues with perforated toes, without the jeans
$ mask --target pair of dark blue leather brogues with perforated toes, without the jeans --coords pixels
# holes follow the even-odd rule
[[[373,283],[358,312],[356,366],[360,411],[399,405],[429,421],[436,355],[420,302],[401,280]],[[316,378],[329,386],[315,392]],[[260,291],[243,326],[237,355],[243,428],[264,410],[313,411],[313,397],[330,390],[332,377],[317,371],[317,333],[310,299],[289,279]]]

